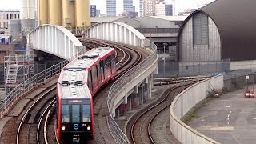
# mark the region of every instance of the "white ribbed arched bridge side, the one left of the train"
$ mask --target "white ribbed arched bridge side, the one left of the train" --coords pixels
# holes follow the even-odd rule
[[[62,26],[42,25],[29,34],[30,48],[69,59],[77,55],[82,43]]]

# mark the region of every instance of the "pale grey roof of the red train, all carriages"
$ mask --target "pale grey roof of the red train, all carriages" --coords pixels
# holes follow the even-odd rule
[[[114,48],[99,47],[78,56],[62,70],[61,79],[58,80],[61,98],[90,98],[90,90],[86,85],[88,71],[94,62],[110,53]]]

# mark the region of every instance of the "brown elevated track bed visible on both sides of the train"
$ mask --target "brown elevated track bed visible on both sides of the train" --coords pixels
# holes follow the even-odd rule
[[[96,44],[94,44],[94,42]],[[134,46],[123,45],[120,43],[110,43],[104,41],[97,41],[93,40],[92,42],[82,42],[87,43],[85,44],[90,48],[98,47],[98,46],[111,46],[115,47],[118,51],[118,74],[114,78],[117,80],[124,74],[126,71],[130,70],[131,67],[136,66],[139,62],[142,62],[143,58],[146,58],[148,53],[143,50],[137,50]],[[89,43],[89,44],[88,44]],[[112,82],[114,82],[114,80]],[[107,105],[106,105],[106,98],[108,94],[108,90],[110,89],[111,83],[109,82],[108,86],[102,87],[102,90],[98,92],[98,95],[94,97],[94,121],[95,121],[95,128],[98,127],[96,132],[96,139],[94,141],[88,143],[104,143],[104,138],[112,138],[110,132],[108,130],[106,124],[106,114],[108,113]],[[55,86],[54,84],[53,86]],[[50,86],[52,87],[52,86]],[[48,88],[47,90],[52,90],[52,88]],[[46,93],[44,91],[43,93]],[[4,134],[6,138],[4,138],[4,143],[56,143],[55,135],[54,135],[54,111],[49,112],[49,109],[53,109],[53,104],[51,102],[54,101],[54,94],[52,92],[51,98],[46,96],[38,98],[39,95],[34,96],[33,98],[28,98],[30,101],[38,101],[35,104],[30,104],[26,106],[27,108],[19,115],[19,117],[14,117],[10,119],[10,122],[7,122],[5,126],[5,130],[3,131],[2,135]],[[24,97],[26,98],[26,97]],[[50,102],[50,100],[52,100]],[[34,103],[34,102],[32,102]],[[46,105],[42,103],[47,103]],[[28,108],[30,108],[28,110]],[[43,114],[44,113],[44,114]],[[48,116],[46,116],[48,114]],[[13,124],[17,123],[19,124]],[[39,122],[41,124],[39,124]],[[17,138],[12,138],[13,134],[17,133]],[[15,140],[14,140],[15,139]]]

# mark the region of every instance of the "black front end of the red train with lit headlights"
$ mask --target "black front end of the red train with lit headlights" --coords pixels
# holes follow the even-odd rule
[[[60,138],[62,143],[94,139],[93,106],[89,99],[62,100]]]

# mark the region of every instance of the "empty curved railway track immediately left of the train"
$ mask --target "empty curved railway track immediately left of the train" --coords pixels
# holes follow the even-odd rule
[[[43,134],[42,118],[56,101],[56,87],[53,86],[45,93],[40,94],[38,99],[26,110],[17,131],[17,144],[22,143],[46,143],[40,137]]]

